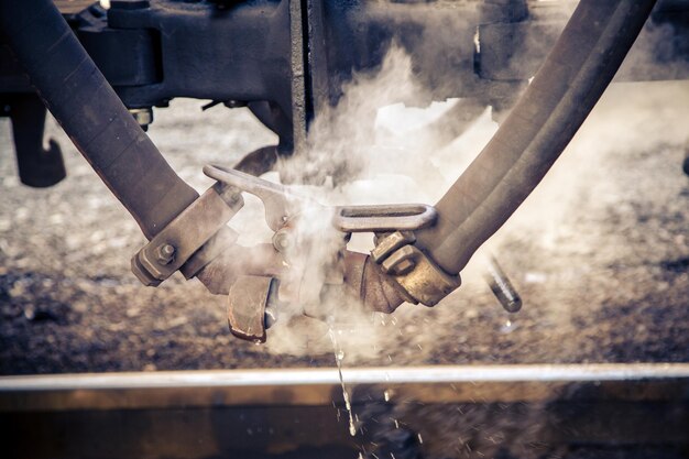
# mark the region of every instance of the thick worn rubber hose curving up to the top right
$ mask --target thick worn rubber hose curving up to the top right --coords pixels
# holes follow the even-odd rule
[[[610,84],[655,0],[582,0],[490,143],[438,201],[417,244],[458,273],[548,172]]]

